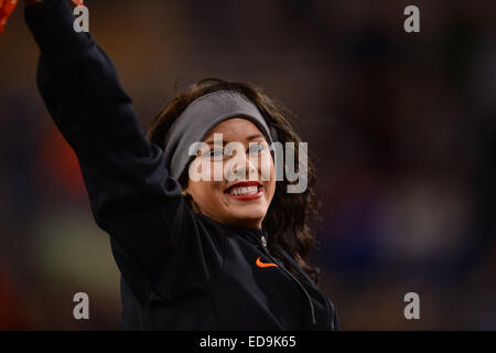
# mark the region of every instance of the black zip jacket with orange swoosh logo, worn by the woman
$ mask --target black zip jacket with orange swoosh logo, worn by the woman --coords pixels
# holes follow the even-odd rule
[[[41,49],[40,92],[77,154],[96,223],[110,235],[122,329],[337,329],[333,304],[281,248],[271,252],[306,280],[272,257],[261,229],[191,210],[112,62],[91,35],[73,31],[66,0],[43,0],[25,19]]]

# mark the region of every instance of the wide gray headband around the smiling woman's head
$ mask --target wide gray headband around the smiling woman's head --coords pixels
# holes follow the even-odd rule
[[[164,158],[171,176],[179,180],[193,159],[188,156],[191,145],[203,141],[215,126],[234,117],[244,117],[257,125],[269,146],[277,141],[276,129],[269,128],[257,106],[247,97],[234,90],[216,90],[190,104],[169,130]]]

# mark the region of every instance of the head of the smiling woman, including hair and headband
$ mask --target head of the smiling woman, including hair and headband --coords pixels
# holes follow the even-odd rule
[[[229,94],[226,95],[225,93]],[[240,108],[238,105],[231,107],[231,114],[217,114],[211,116],[206,119],[206,122],[201,124],[200,135],[195,138],[191,138],[191,142],[202,140],[207,142],[209,147],[213,148],[213,153],[219,153],[219,147],[214,146],[214,136],[216,133],[223,133],[223,145],[227,142],[237,142],[244,146],[248,154],[251,154],[251,159],[237,159],[241,161],[233,167],[234,172],[238,171],[238,167],[241,168],[238,172],[241,174],[246,171],[248,175],[251,173],[257,175],[257,180],[260,181],[261,190],[263,194],[256,199],[256,202],[242,203],[235,202],[236,200],[227,199],[224,195],[225,191],[228,191],[235,183],[228,182],[225,173],[219,173],[224,175],[219,182],[214,182],[216,178],[202,178],[202,181],[195,181],[191,178],[190,164],[194,164],[195,159],[188,158],[186,152],[183,152],[184,157],[183,164],[179,168],[171,168],[172,162],[168,164],[171,173],[175,174],[176,179],[180,181],[183,188],[183,195],[188,199],[192,208],[197,213],[206,213],[214,220],[220,223],[233,223],[237,225],[244,225],[249,227],[262,227],[268,234],[270,234],[269,246],[278,245],[281,246],[285,252],[288,252],[299,264],[299,266],[304,269],[306,275],[309,275],[313,281],[317,282],[319,269],[306,263],[306,258],[313,247],[313,235],[310,228],[310,222],[319,220],[319,200],[315,199],[313,192],[313,185],[315,183],[314,169],[311,161],[306,161],[304,168],[306,169],[306,178],[309,180],[309,185],[302,193],[288,193],[288,185],[293,184],[287,179],[276,179],[274,181],[274,153],[269,153],[269,149],[263,149],[262,151],[257,151],[257,162],[254,163],[254,152],[248,148],[249,142],[260,142],[261,147],[268,147],[269,143],[281,142],[281,143],[299,143],[301,142],[300,137],[296,135],[291,126],[291,120],[295,118],[291,113],[279,101],[271,99],[260,87],[257,87],[248,83],[235,83],[226,82],[218,78],[205,78],[201,82],[192,85],[185,92],[177,94],[176,97],[170,101],[155,117],[149,131],[148,138],[151,142],[160,146],[165,152],[168,151],[168,146],[175,146],[177,142],[171,142],[170,138],[174,133],[171,130],[177,130],[179,122],[183,122],[185,126],[185,131],[194,130],[192,125],[197,124],[197,120],[204,119],[205,116],[209,116],[208,111],[215,109],[212,106],[204,107],[205,109],[201,111],[198,116],[188,115],[192,107],[202,107],[198,103],[205,97],[222,97],[216,104],[225,108],[229,99],[237,99],[241,97],[249,101],[248,110],[244,110],[240,115]],[[205,101],[205,100],[204,100]],[[212,101],[209,101],[212,104]],[[244,103],[241,103],[244,104]],[[251,108],[254,110],[251,110]],[[188,116],[193,116],[195,120],[191,121]],[[180,118],[181,117],[181,118]],[[181,121],[182,120],[182,121]],[[214,121],[214,124],[212,124]],[[215,121],[219,121],[215,125]],[[214,125],[214,127],[212,127]],[[188,146],[187,138],[180,135],[184,142],[184,146]],[[185,147],[183,148],[185,149]],[[258,149],[257,149],[258,150]],[[271,150],[274,152],[274,150]],[[212,152],[212,151],[211,151]],[[172,154],[172,152],[170,152]],[[228,164],[228,160],[234,160],[230,156],[225,156],[222,153],[222,161]],[[196,160],[201,158],[196,157]],[[168,158],[172,160],[172,158]],[[242,163],[242,161],[246,163]],[[294,162],[299,164],[300,153],[296,149],[294,151]],[[211,159],[212,172],[215,171],[217,162],[215,158]],[[269,165],[269,175],[265,175],[263,165]],[[230,167],[228,164],[228,167]],[[180,171],[176,171],[177,169]],[[196,169],[195,169],[196,170]],[[265,176],[265,178],[263,178]],[[267,178],[269,176],[269,179]],[[205,179],[207,181],[205,181]],[[267,180],[268,179],[268,180]],[[251,182],[250,181],[239,181],[239,182]],[[217,185],[217,193],[214,193],[214,185]],[[246,184],[247,185],[247,184]],[[259,190],[259,191],[261,191]],[[206,193],[211,191],[209,194],[213,197],[206,197]],[[229,190],[230,191],[230,190]],[[193,194],[194,193],[194,194]],[[217,197],[215,197],[217,195]],[[195,197],[196,196],[196,197]],[[226,202],[227,199],[227,202]],[[220,202],[222,200],[222,202]],[[218,202],[216,202],[218,201]],[[230,202],[229,202],[230,201]],[[200,204],[198,204],[200,203]],[[213,206],[215,204],[215,206]],[[202,207],[203,206],[203,211]],[[251,212],[248,208],[252,208]],[[223,221],[220,221],[223,220]],[[228,221],[227,221],[228,220]],[[281,257],[282,261],[285,261]],[[289,265],[289,264],[288,264]],[[299,271],[289,268],[294,272],[295,276],[300,276]]]

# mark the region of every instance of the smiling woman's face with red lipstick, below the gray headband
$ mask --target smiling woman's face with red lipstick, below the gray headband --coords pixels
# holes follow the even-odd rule
[[[214,133],[223,135],[224,147],[238,142],[231,156],[225,152],[224,147],[214,146]],[[196,171],[209,178],[194,181],[190,174],[184,191],[191,194],[202,214],[216,222],[247,228],[261,227],[276,191],[273,159],[263,133],[247,119],[229,118],[213,128],[204,142],[206,145],[192,165],[196,162]],[[250,147],[250,142],[257,145]],[[205,172],[203,168],[207,164],[211,168]],[[220,178],[217,174],[217,180],[214,180],[215,169],[222,173]],[[230,170],[230,174],[226,170]]]

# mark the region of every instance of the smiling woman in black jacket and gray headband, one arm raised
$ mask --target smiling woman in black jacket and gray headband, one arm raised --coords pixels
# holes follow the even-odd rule
[[[250,84],[204,79],[165,106],[147,139],[110,58],[73,31],[67,1],[43,0],[25,18],[41,49],[40,92],[110,235],[123,329],[337,329],[308,263],[312,164],[300,194],[274,178],[269,143],[300,141],[281,105]],[[218,154],[216,133],[242,148]],[[195,141],[214,153],[190,156]],[[192,180],[188,167],[204,157],[235,178]]]

